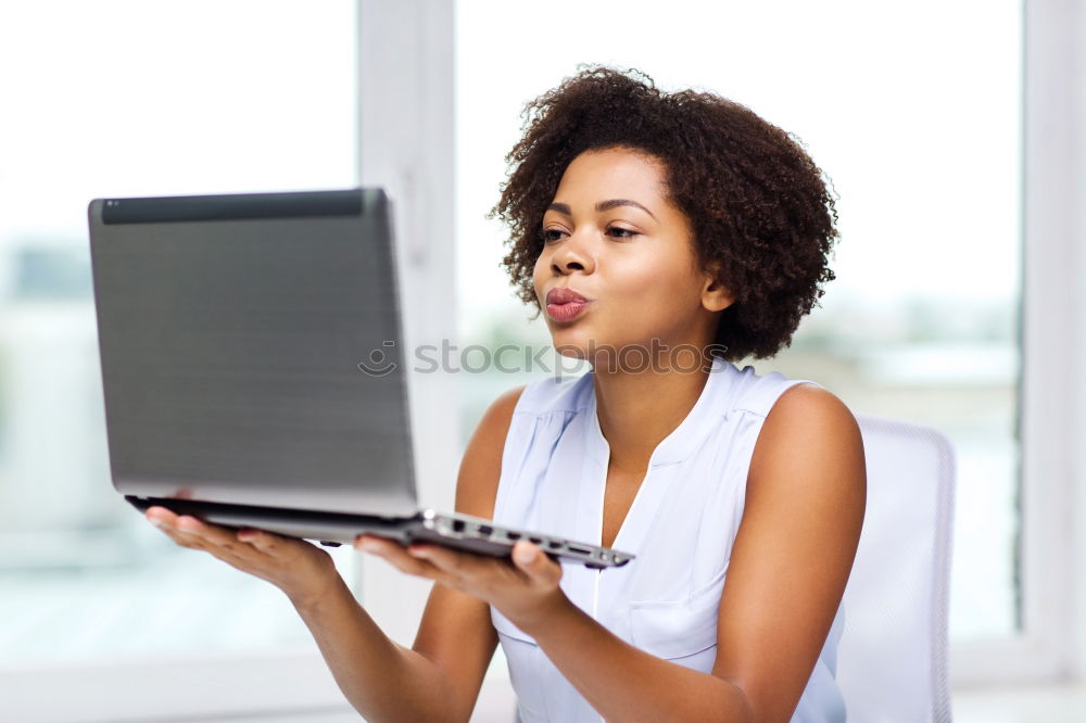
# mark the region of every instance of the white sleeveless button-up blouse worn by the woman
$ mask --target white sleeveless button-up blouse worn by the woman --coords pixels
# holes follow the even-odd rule
[[[740,371],[715,358],[693,409],[649,458],[613,544],[636,559],[606,570],[563,561],[567,597],[634,647],[710,673],[755,442],[773,403],[800,383],[815,382],[775,371],[758,376],[752,366]],[[532,381],[517,402],[505,441],[494,521],[601,544],[609,458],[593,371]],[[603,721],[534,638],[493,606],[491,620],[508,660],[520,721]],[[842,625],[843,607],[791,723],[845,720],[834,680]]]

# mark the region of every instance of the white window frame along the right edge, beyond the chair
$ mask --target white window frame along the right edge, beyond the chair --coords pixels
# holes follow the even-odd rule
[[[1074,559],[1086,554],[1072,534],[1081,413],[1068,393],[1078,379],[1075,370],[1086,363],[1081,325],[1068,313],[1076,299],[1075,279],[1086,270],[1076,267],[1082,158],[1069,152],[1081,141],[1075,48],[1086,33],[1073,1],[1024,0],[1023,13],[1021,518],[1014,550],[1021,632],[954,644],[950,682],[958,689],[1068,678],[1074,663],[1069,631],[1086,622],[1076,619],[1073,605]]]

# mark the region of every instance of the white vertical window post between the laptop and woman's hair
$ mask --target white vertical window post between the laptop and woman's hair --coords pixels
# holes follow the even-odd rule
[[[384,187],[392,200],[405,348],[440,345],[457,338],[454,5],[359,0],[358,18],[358,177],[363,186]],[[414,358],[404,362],[414,367]],[[462,456],[456,377],[413,371],[407,394],[419,505],[451,511]],[[384,560],[358,559],[359,600],[405,647],[414,643],[430,587]]]

